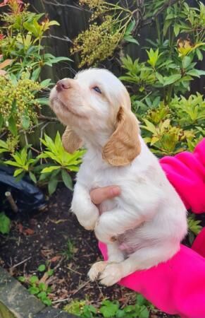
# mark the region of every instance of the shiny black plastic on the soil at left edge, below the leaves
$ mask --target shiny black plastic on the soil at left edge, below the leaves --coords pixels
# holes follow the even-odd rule
[[[16,182],[13,171],[12,167],[0,165],[0,212],[12,210],[11,204],[6,199],[6,192],[11,192],[18,213],[30,213],[44,208],[46,200],[42,191],[32,184],[28,177]]]

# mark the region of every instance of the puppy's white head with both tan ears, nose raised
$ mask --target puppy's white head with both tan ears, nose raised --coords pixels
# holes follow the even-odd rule
[[[63,146],[68,152],[83,140],[99,144],[111,165],[128,165],[139,155],[139,128],[128,91],[111,72],[88,69],[58,81],[50,105],[67,126]]]

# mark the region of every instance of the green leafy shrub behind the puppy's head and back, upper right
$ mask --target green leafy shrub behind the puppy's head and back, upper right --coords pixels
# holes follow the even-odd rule
[[[138,7],[137,4],[132,5],[131,9],[123,1],[118,4],[108,4],[104,0],[80,1],[80,4],[87,5],[92,17],[89,28],[74,40],[73,50],[81,55],[81,64],[88,65],[109,56],[118,57],[115,54],[118,49],[122,56],[126,28],[129,28],[130,37],[140,43],[139,24],[143,28],[152,23],[156,28],[156,40],[147,39],[147,47],[142,47],[144,61],[132,60],[128,55],[121,57],[125,74],[120,79],[128,85],[132,110],[142,122],[142,136],[151,150],[158,155],[174,155],[185,149],[192,151],[203,138],[205,129],[204,96],[197,92],[188,94],[191,82],[205,75],[205,71],[197,69],[197,61],[203,59],[205,50],[205,5],[199,2],[197,8],[193,8],[185,0],[175,4],[164,0],[143,3]],[[134,14],[136,11],[141,13],[141,18]],[[95,19],[106,16],[105,13],[111,20],[118,17],[118,23],[123,18],[121,29],[111,28],[112,32],[120,33],[120,40],[115,49],[101,54],[101,57],[94,55],[90,60],[89,52],[84,50],[88,47],[87,37],[91,40],[92,28],[101,28],[101,21],[106,18]],[[132,23],[132,27],[126,23]],[[86,37],[83,37],[85,34]],[[107,30],[104,36],[111,35],[111,31]],[[99,39],[97,36],[95,38]],[[101,42],[96,42],[95,47],[92,54],[99,52]]]

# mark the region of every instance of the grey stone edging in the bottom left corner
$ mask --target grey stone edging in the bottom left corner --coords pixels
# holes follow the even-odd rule
[[[45,307],[0,267],[0,318],[77,318],[77,316]]]

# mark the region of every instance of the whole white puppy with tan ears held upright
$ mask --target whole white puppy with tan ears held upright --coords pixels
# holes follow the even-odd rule
[[[67,126],[66,150],[87,148],[71,208],[108,247],[108,261],[94,264],[89,278],[113,285],[173,257],[187,233],[186,209],[141,138],[123,83],[104,69],[81,71],[58,81],[50,105]],[[89,192],[111,184],[120,196],[97,208]]]

